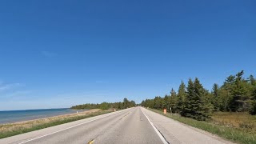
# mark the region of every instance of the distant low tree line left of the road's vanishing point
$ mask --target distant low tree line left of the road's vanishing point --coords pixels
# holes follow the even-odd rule
[[[111,108],[114,109],[126,109],[128,107],[135,106],[136,103],[134,101],[129,101],[127,98],[123,99],[123,102],[102,102],[102,103],[86,103],[82,105],[72,106],[70,109],[73,110],[82,110],[82,109],[102,109],[108,110]]]

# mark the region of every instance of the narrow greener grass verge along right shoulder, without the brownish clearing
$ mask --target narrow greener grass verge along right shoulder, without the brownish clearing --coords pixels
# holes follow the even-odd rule
[[[203,122],[197,121],[192,118],[184,118],[178,114],[163,114],[160,110],[150,109],[158,114],[162,114],[166,117],[173,118],[178,122],[185,123],[186,125],[196,127],[201,130],[208,131],[212,134],[216,134],[222,138],[226,138],[231,142],[237,142],[242,144],[255,144],[256,143],[256,131],[248,131],[242,128],[236,128],[234,126],[221,125],[213,122],[212,120]]]

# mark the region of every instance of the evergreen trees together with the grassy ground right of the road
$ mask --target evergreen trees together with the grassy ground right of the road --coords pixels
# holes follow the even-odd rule
[[[243,77],[244,71],[230,75],[222,86],[206,90],[198,78],[181,82],[163,98],[142,101],[141,106],[166,114],[179,122],[218,134],[239,143],[256,143],[256,79]]]

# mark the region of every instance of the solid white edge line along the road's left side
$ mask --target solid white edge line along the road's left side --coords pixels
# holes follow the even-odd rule
[[[122,111],[117,111],[117,112],[114,112],[114,114],[118,114],[118,113],[121,113],[121,112],[122,112]],[[106,117],[111,116],[111,115],[114,115],[114,114],[109,114],[109,115],[106,115],[106,116],[104,116],[104,117],[102,117],[102,118],[106,118]],[[20,142],[20,143],[18,143],[18,144],[23,144],[23,143],[26,143],[26,142],[34,141],[34,140],[39,139],[39,138],[44,138],[44,137],[46,137],[46,136],[48,136],[48,135],[56,134],[56,133],[59,133],[59,132],[64,131],[64,130],[69,130],[69,129],[74,128],[74,127],[76,127],[76,126],[81,126],[81,125],[83,125],[83,124],[86,124],[86,123],[89,123],[89,122],[94,122],[94,121],[96,121],[96,120],[98,120],[98,119],[102,119],[102,118],[96,118],[96,119],[90,120],[90,121],[88,121],[88,122],[82,122],[82,123],[79,123],[78,125],[70,126],[70,127],[67,127],[66,129],[58,130],[58,131],[55,131],[55,132],[50,133],[50,134],[45,134],[45,135],[42,135],[42,136],[37,137],[37,138],[32,138],[32,139],[29,139],[29,140],[27,140],[27,141]]]

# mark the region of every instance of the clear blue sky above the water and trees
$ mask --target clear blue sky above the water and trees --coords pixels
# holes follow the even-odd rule
[[[256,75],[254,0],[0,2],[0,110],[139,103]]]

